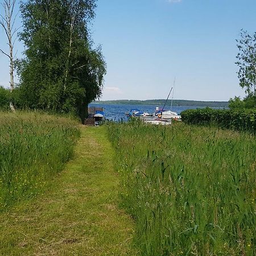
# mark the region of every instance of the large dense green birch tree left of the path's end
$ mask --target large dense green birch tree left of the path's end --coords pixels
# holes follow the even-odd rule
[[[93,49],[88,23],[95,0],[28,0],[20,8],[26,46],[19,61],[20,95],[32,109],[74,112],[84,121],[101,94],[106,72],[101,49]]]

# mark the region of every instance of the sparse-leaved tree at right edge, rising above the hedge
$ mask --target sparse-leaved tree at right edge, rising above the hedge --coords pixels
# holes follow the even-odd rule
[[[239,67],[238,78],[240,86],[246,88],[247,97],[256,96],[256,32],[253,35],[241,31],[237,41],[239,49],[236,64]]]

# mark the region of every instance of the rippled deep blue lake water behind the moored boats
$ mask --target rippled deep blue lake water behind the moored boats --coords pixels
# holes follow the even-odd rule
[[[126,112],[130,112],[131,109],[139,109],[142,112],[154,113],[156,105],[123,105],[123,104],[89,104],[89,106],[97,106],[104,108],[106,119],[110,120],[127,120],[125,115]],[[161,108],[162,106],[159,106]],[[197,109],[200,107],[196,106],[173,106],[172,111],[180,114],[183,110],[186,109]],[[170,106],[166,106],[166,110],[170,110]]]

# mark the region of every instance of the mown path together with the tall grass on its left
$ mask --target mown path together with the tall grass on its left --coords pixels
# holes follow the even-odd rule
[[[106,127],[0,113],[0,254],[135,255]]]

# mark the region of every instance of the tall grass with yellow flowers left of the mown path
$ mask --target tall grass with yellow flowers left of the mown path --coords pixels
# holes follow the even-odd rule
[[[0,210],[36,195],[72,156],[77,122],[39,113],[0,113]]]

